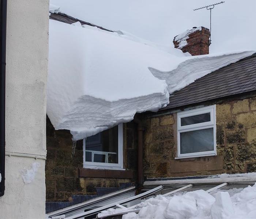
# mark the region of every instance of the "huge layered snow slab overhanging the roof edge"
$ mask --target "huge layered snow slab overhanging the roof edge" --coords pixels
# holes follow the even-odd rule
[[[47,114],[78,140],[157,111],[169,93],[255,51],[183,54],[124,32],[49,21]]]

